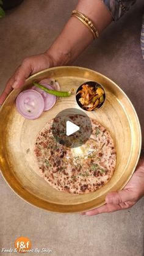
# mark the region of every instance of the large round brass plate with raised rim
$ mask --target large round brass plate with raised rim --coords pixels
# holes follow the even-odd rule
[[[22,89],[13,90],[0,110],[0,167],[9,186],[21,198],[45,210],[58,213],[77,213],[104,204],[107,192],[118,191],[131,178],[139,160],[142,136],[134,107],[117,84],[93,70],[81,67],[49,68],[27,79],[24,88],[32,81],[55,78],[62,90],[79,87],[85,81],[97,81],[106,91],[103,107],[87,112],[110,131],[117,150],[117,167],[112,179],[96,192],[71,195],[52,188],[37,171],[33,147],[35,137],[45,123],[65,108],[77,108],[75,96],[60,98],[50,110],[36,120],[26,120],[15,108],[15,98]]]

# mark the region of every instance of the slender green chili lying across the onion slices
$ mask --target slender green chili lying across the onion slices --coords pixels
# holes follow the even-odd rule
[[[62,92],[59,90],[51,90],[46,88],[45,86],[42,86],[41,84],[38,84],[38,82],[33,82],[34,86],[37,86],[41,90],[45,90],[45,92],[48,92],[49,94],[55,95],[57,97],[70,97],[71,92]]]

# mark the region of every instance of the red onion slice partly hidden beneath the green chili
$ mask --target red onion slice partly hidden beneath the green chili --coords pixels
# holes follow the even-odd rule
[[[43,84],[41,82],[40,82],[40,84],[47,87],[48,89],[53,90],[53,87],[49,86],[48,84]],[[54,104],[56,103],[56,100],[57,100],[57,97],[55,95],[49,94],[36,86],[32,86],[32,89],[39,92],[41,94],[41,96],[43,97],[43,100],[45,103],[44,111],[49,110],[54,106]]]

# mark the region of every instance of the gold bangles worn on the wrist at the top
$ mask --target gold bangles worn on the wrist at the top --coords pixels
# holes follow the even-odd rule
[[[99,36],[98,30],[96,29],[96,27],[93,25],[92,21],[85,16],[83,13],[77,11],[77,10],[73,10],[71,16],[75,16],[76,18],[78,18],[83,24],[85,24],[85,26],[88,27],[88,29],[92,32],[93,34],[93,39],[95,39],[96,37]]]

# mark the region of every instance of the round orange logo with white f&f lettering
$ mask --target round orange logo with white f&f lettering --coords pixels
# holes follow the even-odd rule
[[[15,240],[15,249],[17,252],[25,253],[29,252],[32,243],[29,238],[21,236]]]

